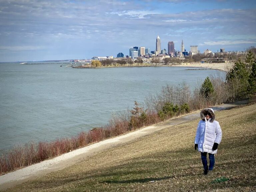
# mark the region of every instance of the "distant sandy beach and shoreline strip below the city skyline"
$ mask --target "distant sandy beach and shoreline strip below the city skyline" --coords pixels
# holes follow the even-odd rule
[[[220,71],[229,71],[229,69],[234,65],[234,63],[181,63],[177,65],[119,65],[119,66],[75,66],[72,68],[77,69],[99,69],[99,68],[116,68],[116,67],[192,67],[192,68],[205,68],[205,69],[215,69]]]

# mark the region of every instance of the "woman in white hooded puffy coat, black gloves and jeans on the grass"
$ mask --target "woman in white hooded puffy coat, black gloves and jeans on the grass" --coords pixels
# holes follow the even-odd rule
[[[204,174],[211,174],[215,159],[214,154],[217,153],[218,145],[221,142],[222,131],[220,124],[215,119],[215,114],[212,108],[205,108],[200,112],[201,121],[199,121],[196,137],[195,150],[201,152],[201,159],[204,167]],[[207,153],[209,154],[209,167],[207,163]]]

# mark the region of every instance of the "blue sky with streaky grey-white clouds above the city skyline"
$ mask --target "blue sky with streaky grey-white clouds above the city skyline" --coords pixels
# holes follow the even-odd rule
[[[0,0],[0,62],[256,47],[255,0]]]

